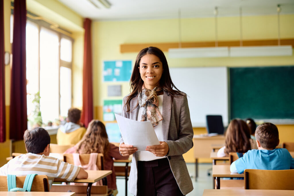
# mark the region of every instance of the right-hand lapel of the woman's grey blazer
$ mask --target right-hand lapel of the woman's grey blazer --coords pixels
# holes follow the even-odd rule
[[[171,121],[171,96],[168,92],[163,91],[163,102],[162,102],[162,132],[163,140],[168,139],[169,123]]]

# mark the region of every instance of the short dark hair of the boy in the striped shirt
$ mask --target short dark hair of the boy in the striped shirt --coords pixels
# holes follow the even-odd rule
[[[28,153],[42,153],[46,146],[50,144],[50,135],[41,127],[26,130],[24,132],[24,144],[26,145]]]

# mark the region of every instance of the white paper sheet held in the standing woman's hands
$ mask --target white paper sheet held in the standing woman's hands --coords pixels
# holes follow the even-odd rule
[[[114,115],[125,144],[133,145],[138,151],[145,151],[146,146],[160,144],[150,121],[141,122]]]

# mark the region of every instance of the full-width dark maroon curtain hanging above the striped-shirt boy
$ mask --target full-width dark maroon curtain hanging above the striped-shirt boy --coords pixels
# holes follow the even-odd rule
[[[26,109],[26,0],[14,0],[9,138],[22,140],[28,127]]]

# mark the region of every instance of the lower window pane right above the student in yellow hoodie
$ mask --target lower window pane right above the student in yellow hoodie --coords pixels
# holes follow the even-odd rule
[[[71,108],[71,69],[60,67],[60,115],[67,116]]]

